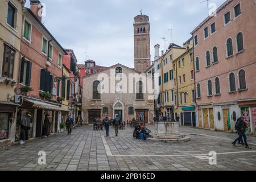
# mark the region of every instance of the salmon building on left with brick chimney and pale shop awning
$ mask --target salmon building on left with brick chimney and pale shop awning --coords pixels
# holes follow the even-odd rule
[[[22,39],[20,44],[19,84],[17,94],[22,96],[18,106],[16,137],[19,140],[20,122],[26,113],[31,115],[29,138],[42,137],[45,115],[49,115],[51,133],[60,131],[60,83],[62,59],[65,50],[42,23],[40,1],[30,1],[30,8],[23,8]],[[32,91],[26,92],[27,88]]]

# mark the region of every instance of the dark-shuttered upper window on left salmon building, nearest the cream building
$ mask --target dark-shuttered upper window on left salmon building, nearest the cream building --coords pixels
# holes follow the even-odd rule
[[[20,84],[30,85],[31,68],[32,68],[32,63],[23,56],[20,64],[20,77],[19,77]]]

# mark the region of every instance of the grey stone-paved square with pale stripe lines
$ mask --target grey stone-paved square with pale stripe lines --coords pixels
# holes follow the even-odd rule
[[[0,149],[0,170],[256,170],[256,138],[248,137],[251,150],[231,142],[237,134],[181,127],[190,142],[164,143],[136,140],[126,127],[114,137],[92,126],[40,138],[26,146]],[[46,152],[46,165],[38,164],[38,152]],[[210,151],[217,152],[217,165],[209,165]]]

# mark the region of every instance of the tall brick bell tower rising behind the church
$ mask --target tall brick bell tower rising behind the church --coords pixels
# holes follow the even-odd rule
[[[146,15],[134,18],[134,69],[144,73],[150,68],[150,23]]]

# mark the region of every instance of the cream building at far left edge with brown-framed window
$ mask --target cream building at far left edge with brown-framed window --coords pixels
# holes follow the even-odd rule
[[[0,1],[0,146],[15,141],[22,9],[26,1]]]

